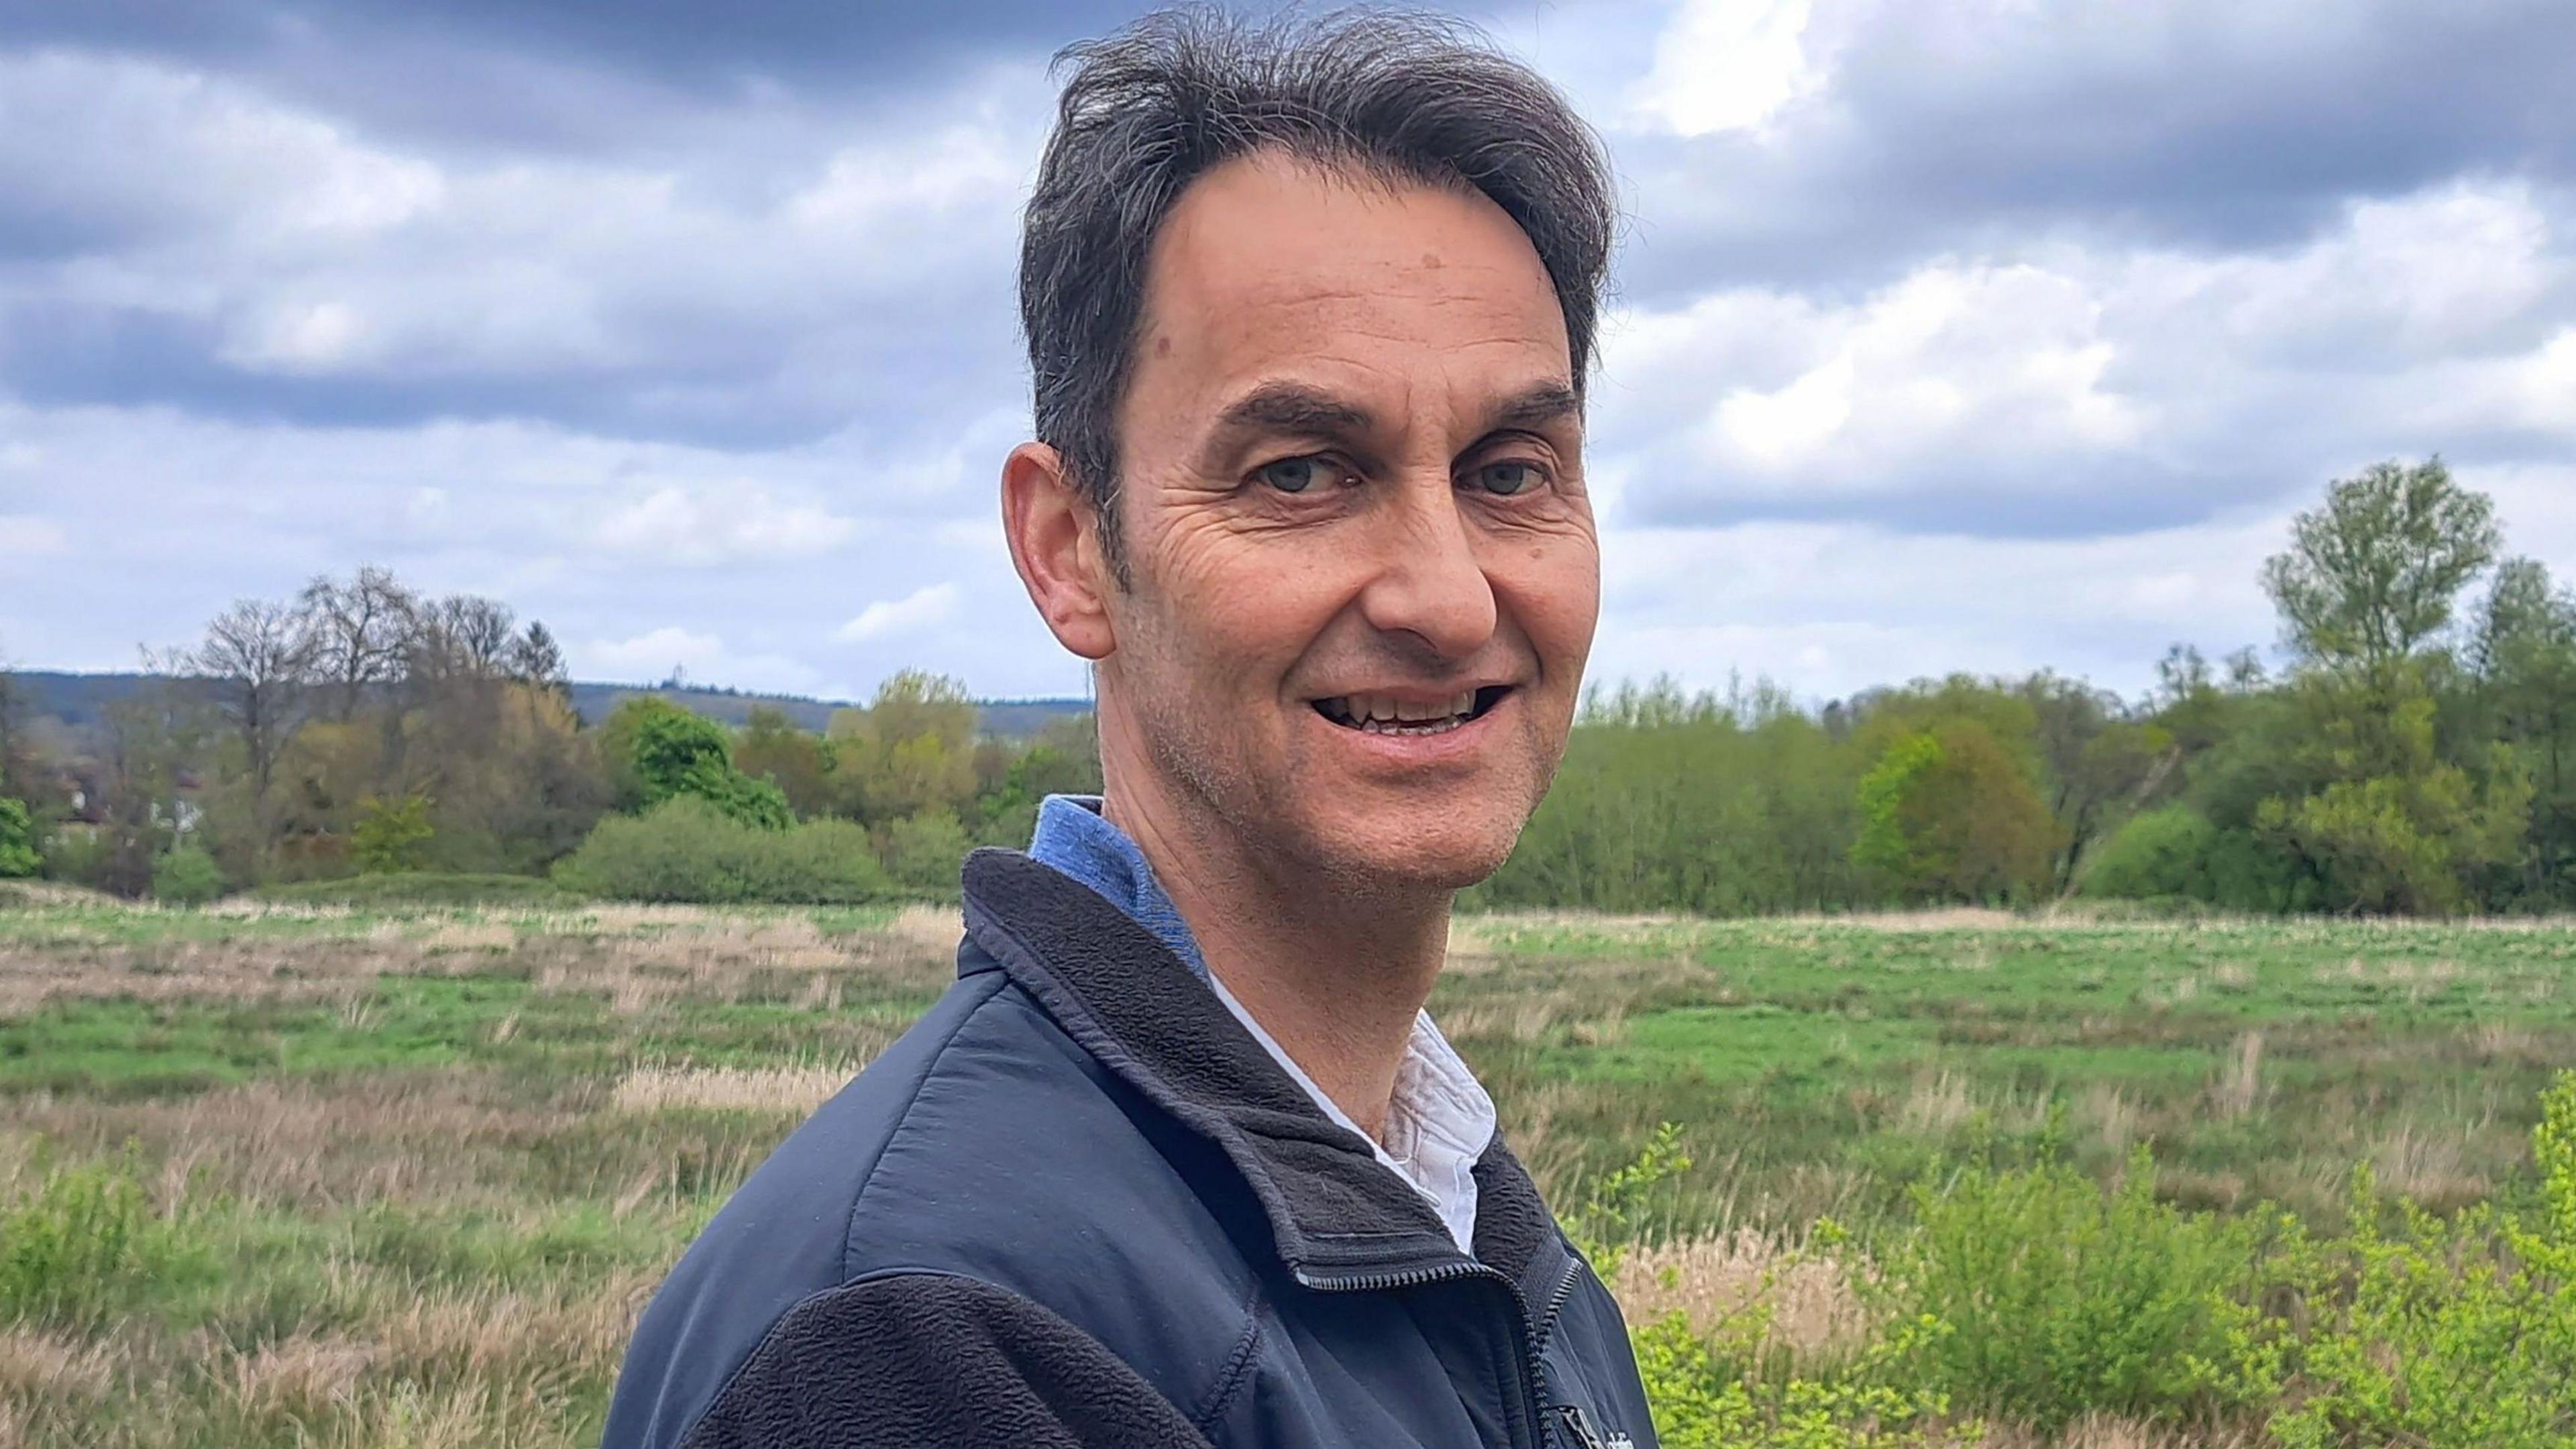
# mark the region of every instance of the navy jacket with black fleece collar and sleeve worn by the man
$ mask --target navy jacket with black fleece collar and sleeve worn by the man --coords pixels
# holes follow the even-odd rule
[[[958,982],[662,1284],[608,1449],[1654,1449],[1499,1140],[1476,1194],[1466,1256],[1162,941],[976,851]]]

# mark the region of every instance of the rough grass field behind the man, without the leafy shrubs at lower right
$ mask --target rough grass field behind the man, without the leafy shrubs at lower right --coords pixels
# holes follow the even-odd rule
[[[0,1449],[595,1444],[662,1269],[953,938],[933,908],[0,908]],[[2354,1163],[2532,1201],[2576,923],[1473,918],[1435,1013],[1561,1204],[1680,1124],[1690,1168],[1618,1212],[1641,1318],[1767,1294],[1832,1356],[1868,1307],[1793,1248],[1893,1243],[1963,1165],[2110,1181],[2148,1145],[2172,1204],[2316,1225]]]

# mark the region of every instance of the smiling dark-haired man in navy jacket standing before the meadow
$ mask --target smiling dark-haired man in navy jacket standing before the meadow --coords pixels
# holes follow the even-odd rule
[[[708,1225],[613,1449],[1654,1446],[1618,1307],[1422,1013],[1600,593],[1589,131],[1419,18],[1072,52],[1002,521],[1100,802]]]

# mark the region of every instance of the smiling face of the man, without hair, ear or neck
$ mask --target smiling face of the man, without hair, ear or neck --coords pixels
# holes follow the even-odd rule
[[[1564,312],[1479,193],[1260,155],[1167,217],[1118,418],[1108,730],[1255,859],[1463,887],[1600,611]]]

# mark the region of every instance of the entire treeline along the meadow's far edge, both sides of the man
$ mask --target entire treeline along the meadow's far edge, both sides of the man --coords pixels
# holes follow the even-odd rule
[[[1945,678],[1597,691],[1481,905],[1865,910],[2069,895],[2226,910],[2576,908],[2576,593],[2439,462],[2334,482],[2264,565],[2287,663],[2174,647],[2143,699]],[[902,673],[819,732],[629,699],[541,624],[381,570],[242,601],[85,737],[0,676],[0,874],[118,895],[513,871],[641,900],[945,892],[1100,784],[1090,717],[979,732]]]

